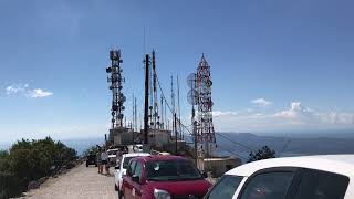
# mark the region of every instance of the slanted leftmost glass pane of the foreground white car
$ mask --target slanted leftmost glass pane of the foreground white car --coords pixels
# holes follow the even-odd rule
[[[240,176],[222,176],[217,185],[207,195],[207,199],[229,199],[235,195],[236,189],[242,181]]]

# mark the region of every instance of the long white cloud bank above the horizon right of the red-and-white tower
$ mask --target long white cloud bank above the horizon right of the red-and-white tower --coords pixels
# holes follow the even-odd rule
[[[353,130],[354,113],[319,112],[301,102],[280,112],[215,111],[216,130],[220,132],[313,132]]]

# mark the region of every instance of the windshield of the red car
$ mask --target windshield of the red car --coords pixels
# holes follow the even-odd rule
[[[155,181],[202,179],[189,160],[170,159],[146,163],[147,179]]]

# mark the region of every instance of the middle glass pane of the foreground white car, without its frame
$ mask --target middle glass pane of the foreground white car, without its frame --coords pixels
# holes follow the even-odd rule
[[[241,199],[284,199],[293,178],[293,172],[259,174],[247,182]]]

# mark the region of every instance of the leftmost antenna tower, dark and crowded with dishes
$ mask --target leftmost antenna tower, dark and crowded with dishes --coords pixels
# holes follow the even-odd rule
[[[116,128],[123,127],[124,102],[126,101],[122,91],[125,80],[123,77],[123,69],[121,67],[121,63],[123,63],[121,50],[111,50],[110,60],[111,66],[106,69],[106,73],[108,73],[107,82],[111,83],[110,90],[112,91],[111,123],[112,128]]]

